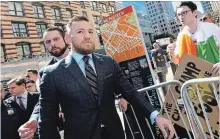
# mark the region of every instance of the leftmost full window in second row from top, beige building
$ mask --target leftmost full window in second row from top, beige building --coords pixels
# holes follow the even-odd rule
[[[26,23],[12,22],[13,34],[15,37],[27,37]]]

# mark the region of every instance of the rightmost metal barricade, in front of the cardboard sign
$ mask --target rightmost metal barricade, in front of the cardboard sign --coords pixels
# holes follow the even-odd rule
[[[195,85],[195,91],[193,90],[192,93],[194,93],[193,95],[196,95],[196,98],[198,98],[198,100],[199,100],[199,103],[200,103],[201,109],[202,109],[202,113],[205,118],[205,123],[208,127],[208,132],[209,132],[211,139],[216,139],[216,138],[219,138],[219,136],[214,137],[214,135],[213,135],[212,128],[211,128],[209,118],[207,115],[206,107],[204,105],[204,101],[202,100],[202,94],[200,92],[199,85],[209,84],[209,87],[212,88],[210,90],[214,94],[214,97],[215,97],[214,98],[215,100],[213,100],[213,101],[216,101],[218,109],[220,109],[220,95],[217,93],[216,84],[215,84],[215,83],[217,83],[217,86],[219,87],[219,82],[220,82],[219,77],[210,77],[210,78],[192,79],[192,80],[186,81],[182,85],[181,97],[183,98],[183,101],[184,101],[185,110],[186,110],[186,113],[188,116],[188,120],[190,122],[190,127],[192,129],[194,138],[199,138],[199,135],[203,139],[207,139],[208,137],[204,131],[204,127],[202,126],[202,123],[198,117],[198,114],[195,111],[195,106],[193,105],[193,102],[190,99],[189,92],[190,92],[190,90],[193,89],[193,85]],[[216,116],[216,115],[213,115],[213,116]],[[198,134],[197,131],[199,131],[200,134]],[[217,131],[217,132],[220,133],[220,131]]]

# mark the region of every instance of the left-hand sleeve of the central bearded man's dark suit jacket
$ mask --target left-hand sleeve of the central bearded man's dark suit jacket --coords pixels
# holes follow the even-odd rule
[[[53,73],[44,71],[40,84],[39,138],[60,139],[57,130],[59,105]]]

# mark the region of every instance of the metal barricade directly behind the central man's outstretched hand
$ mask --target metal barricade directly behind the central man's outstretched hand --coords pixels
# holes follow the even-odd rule
[[[139,93],[145,93],[145,92],[146,92],[146,93],[148,94],[148,91],[150,91],[150,90],[158,89],[158,88],[160,88],[160,87],[170,86],[170,85],[179,85],[179,86],[181,86],[182,84],[181,84],[181,82],[178,81],[178,80],[173,80],[173,81],[163,82],[163,83],[160,83],[160,84],[157,84],[157,85],[145,87],[145,88],[139,89],[139,90],[137,90],[137,91],[138,91]],[[158,94],[158,91],[157,91],[157,94]],[[189,132],[189,130],[188,130],[188,127],[186,126],[186,122],[185,122],[185,120],[184,120],[184,118],[183,118],[183,115],[181,114],[181,110],[180,110],[179,107],[178,107],[178,102],[177,102],[177,100],[175,99],[175,96],[174,96],[172,93],[171,93],[171,96],[172,96],[173,100],[175,101],[175,105],[176,105],[177,110],[178,110],[178,112],[179,112],[179,114],[180,114],[180,118],[181,118],[181,120],[182,120],[182,122],[183,122],[183,124],[184,124],[184,127],[185,127],[185,129],[186,129],[186,131],[187,131],[187,134],[188,134],[189,138],[192,139],[191,134],[190,134],[190,132]],[[160,102],[161,102],[161,109],[162,109],[162,108],[163,108],[163,106],[162,106],[162,105],[163,105],[163,101],[162,101],[162,99],[161,99],[161,95],[158,94],[158,97],[159,97],[159,100],[160,100]],[[141,134],[142,138],[143,138],[143,139],[147,138],[147,137],[144,137],[144,135],[143,135],[143,133],[142,133],[142,130],[141,130],[141,128],[140,128],[140,124],[139,124],[139,122],[138,122],[138,119],[137,119],[137,117],[136,117],[136,115],[135,115],[135,112],[134,112],[134,109],[133,109],[132,106],[131,106],[131,109],[132,109],[132,112],[133,112],[133,114],[134,114],[135,121],[137,122],[137,125],[138,125],[138,128],[139,128],[139,130],[140,130],[140,134]],[[171,120],[171,117],[170,117],[170,115],[168,114],[166,107],[164,107],[164,109],[165,109],[165,112],[166,112],[166,115],[167,115],[168,119]],[[123,112],[123,115],[124,115],[124,117],[125,117],[125,121],[128,123],[128,127],[129,127],[129,130],[130,130],[130,132],[131,132],[132,138],[135,139],[134,134],[133,134],[133,131],[132,131],[131,126],[130,126],[130,124],[129,124],[128,118],[127,118],[125,112],[124,112],[124,111],[122,111],[122,112]],[[147,126],[148,126],[149,129],[150,129],[150,132],[151,132],[153,138],[155,139],[155,135],[154,135],[153,132],[152,132],[150,123],[148,122],[148,120],[147,120],[146,118],[145,118],[145,121],[146,121]],[[171,121],[172,121],[172,120],[171,120]],[[175,136],[176,136],[176,138],[179,138],[176,132],[175,132]]]

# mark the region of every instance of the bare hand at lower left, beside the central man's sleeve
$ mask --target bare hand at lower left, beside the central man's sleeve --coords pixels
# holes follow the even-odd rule
[[[37,121],[30,120],[24,123],[22,126],[20,126],[18,132],[21,139],[33,139],[36,130],[37,130]]]

